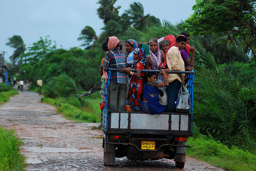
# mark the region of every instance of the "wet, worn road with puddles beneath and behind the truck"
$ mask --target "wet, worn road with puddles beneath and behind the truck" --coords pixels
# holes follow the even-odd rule
[[[26,88],[26,87],[25,87]],[[15,128],[23,138],[22,154],[28,171],[223,171],[187,157],[184,169],[173,160],[131,161],[116,158],[116,165],[103,165],[102,131],[98,123],[66,120],[51,105],[41,103],[37,93],[19,92],[0,106],[0,125]]]

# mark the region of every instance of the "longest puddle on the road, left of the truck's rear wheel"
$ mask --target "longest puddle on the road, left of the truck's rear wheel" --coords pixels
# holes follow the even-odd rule
[[[33,152],[88,152],[93,150],[88,149],[72,149],[72,148],[54,148],[54,147],[23,147],[23,149],[26,149],[28,151]]]

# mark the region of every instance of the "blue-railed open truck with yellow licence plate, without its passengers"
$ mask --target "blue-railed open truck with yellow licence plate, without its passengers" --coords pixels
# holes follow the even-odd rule
[[[120,69],[109,68],[111,71]],[[133,70],[132,70],[133,71]],[[134,70],[135,71],[135,70]],[[160,70],[142,70],[160,72]],[[191,108],[186,113],[110,111],[108,108],[110,78],[106,82],[105,107],[101,112],[103,128],[103,162],[114,165],[116,157],[129,160],[174,159],[175,166],[183,169],[186,161],[186,141],[193,134],[193,89],[194,71],[170,71],[170,74],[185,73],[189,76],[188,91]]]

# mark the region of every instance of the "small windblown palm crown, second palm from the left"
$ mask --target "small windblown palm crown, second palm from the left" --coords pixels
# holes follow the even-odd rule
[[[96,32],[90,26],[85,26],[80,35],[81,37],[78,37],[77,40],[84,40],[81,46],[88,46],[93,40],[98,40]]]

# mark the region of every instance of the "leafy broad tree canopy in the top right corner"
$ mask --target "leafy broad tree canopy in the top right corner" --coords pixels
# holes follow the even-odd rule
[[[185,26],[193,35],[243,37],[256,61],[255,51],[250,45],[250,37],[256,41],[256,1],[255,0],[197,0],[194,14],[186,20]]]

